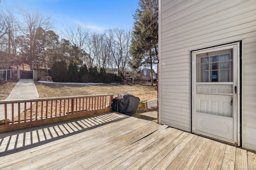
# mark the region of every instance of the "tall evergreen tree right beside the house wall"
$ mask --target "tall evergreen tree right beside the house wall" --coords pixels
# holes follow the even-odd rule
[[[158,55],[158,0],[140,0],[134,14],[133,37],[130,47],[131,68],[142,65],[151,68],[151,85],[153,86],[153,60]]]

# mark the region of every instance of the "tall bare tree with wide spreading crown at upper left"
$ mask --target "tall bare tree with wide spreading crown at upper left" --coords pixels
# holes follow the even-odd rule
[[[21,10],[20,14],[23,16],[24,22],[20,23],[19,28],[29,40],[29,61],[38,61],[36,58],[36,31],[42,28],[47,31],[52,27],[50,16],[45,16],[43,13],[29,12]]]

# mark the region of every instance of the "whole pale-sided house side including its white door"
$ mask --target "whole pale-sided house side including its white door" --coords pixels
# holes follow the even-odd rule
[[[159,0],[159,123],[256,150],[256,1]]]

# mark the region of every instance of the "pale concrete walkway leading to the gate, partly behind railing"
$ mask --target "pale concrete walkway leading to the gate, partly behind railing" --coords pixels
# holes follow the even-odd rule
[[[23,99],[36,99],[38,98],[38,92],[32,79],[20,79],[12,92],[5,100],[23,100]],[[30,107],[30,103],[27,103],[27,107]],[[14,105],[14,113],[17,113],[18,104]],[[24,104],[20,104],[20,111],[24,111]],[[16,115],[14,115],[15,117]],[[12,107],[7,105],[7,117],[12,119]],[[0,105],[0,120],[4,119],[4,105]]]

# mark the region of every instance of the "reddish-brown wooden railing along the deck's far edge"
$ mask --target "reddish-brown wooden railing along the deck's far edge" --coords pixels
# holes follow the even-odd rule
[[[0,101],[0,133],[111,111],[114,94]],[[18,125],[17,125],[18,124]],[[4,128],[3,128],[4,127]],[[18,128],[18,129],[22,129]]]

